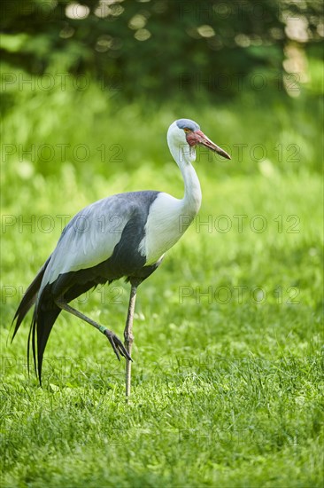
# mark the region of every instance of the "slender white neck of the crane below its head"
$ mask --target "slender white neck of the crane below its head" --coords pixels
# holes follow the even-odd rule
[[[201,200],[201,188],[197,177],[197,173],[192,166],[191,162],[196,161],[196,151],[194,147],[190,147],[189,144],[183,144],[181,146],[174,144],[170,138],[167,138],[167,144],[174,157],[174,161],[177,163],[181,170],[181,175],[184,182],[184,196],[182,202],[182,212],[184,215],[194,216],[197,215]]]

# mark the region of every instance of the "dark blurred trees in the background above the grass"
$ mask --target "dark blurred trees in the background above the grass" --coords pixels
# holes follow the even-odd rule
[[[321,2],[310,0],[2,0],[1,6],[6,64],[35,75],[93,75],[127,98],[232,96],[251,73],[278,80],[288,45],[304,50],[324,35]],[[291,72],[296,65],[287,66]]]

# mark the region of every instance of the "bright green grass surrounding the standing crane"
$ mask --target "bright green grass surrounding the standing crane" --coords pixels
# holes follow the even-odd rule
[[[321,486],[316,117],[302,101],[272,112],[237,102],[189,114],[166,108],[147,120],[135,106],[112,114],[100,98],[82,103],[90,95],[49,97],[52,116],[44,94],[20,93],[26,103],[4,121],[8,144],[71,141],[93,149],[104,141],[123,152],[118,164],[94,151],[83,163],[12,154],[3,168],[2,485]],[[73,102],[82,124],[68,118]],[[6,340],[19,294],[58,240],[58,216],[122,191],[157,188],[180,197],[165,132],[182,115],[216,143],[246,141],[249,151],[264,145],[266,160],[200,155],[199,217],[138,291],[131,403],[123,362],[102,335],[65,313],[50,336],[41,389],[27,374],[28,323],[12,345]],[[289,153],[279,161],[278,141],[298,144],[298,161]],[[35,228],[22,225],[33,218]],[[225,224],[228,232],[220,232]],[[128,293],[120,281],[76,306],[121,337]]]

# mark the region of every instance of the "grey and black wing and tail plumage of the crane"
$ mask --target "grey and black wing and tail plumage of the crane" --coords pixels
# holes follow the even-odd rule
[[[113,195],[82,209],[64,228],[14,316],[12,339],[35,303],[27,349],[29,358],[31,341],[40,381],[43,352],[61,311],[55,303],[58,296],[64,294],[69,303],[92,287],[124,276],[140,283],[160,264],[145,267],[145,256],[138,250],[157,196],[158,192],[150,191]]]

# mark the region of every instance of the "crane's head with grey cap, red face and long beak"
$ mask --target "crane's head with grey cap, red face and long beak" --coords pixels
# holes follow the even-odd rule
[[[194,149],[196,146],[204,146],[228,160],[231,159],[226,151],[204,135],[197,122],[191,121],[190,119],[179,119],[172,123],[167,132],[167,139],[174,146],[181,147],[189,145],[190,149]]]

